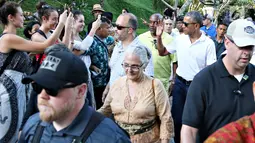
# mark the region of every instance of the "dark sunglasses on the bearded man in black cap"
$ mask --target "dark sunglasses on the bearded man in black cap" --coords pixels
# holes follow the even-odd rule
[[[56,97],[58,95],[59,90],[66,89],[66,88],[73,88],[75,86],[77,86],[77,84],[64,85],[62,88],[56,90],[56,89],[44,88],[35,82],[32,83],[32,87],[37,94],[40,94],[42,92],[42,90],[44,89],[47,94],[49,94],[50,96],[54,96],[54,97]]]

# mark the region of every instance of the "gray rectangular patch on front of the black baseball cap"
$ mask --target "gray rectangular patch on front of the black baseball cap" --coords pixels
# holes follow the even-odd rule
[[[48,55],[41,64],[40,69],[48,69],[55,72],[60,61],[61,61],[60,58]]]

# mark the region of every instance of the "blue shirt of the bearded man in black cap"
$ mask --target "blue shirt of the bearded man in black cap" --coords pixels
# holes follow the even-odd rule
[[[87,126],[92,108],[85,104],[73,122],[66,128],[56,131],[52,123],[41,122],[45,126],[40,143],[72,143],[75,137],[81,136]],[[40,121],[39,113],[34,114],[25,124],[19,143],[32,142],[37,124]],[[86,143],[131,143],[127,135],[114,121],[105,118],[90,134]]]

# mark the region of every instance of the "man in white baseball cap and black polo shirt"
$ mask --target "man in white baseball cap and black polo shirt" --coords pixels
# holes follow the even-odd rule
[[[217,129],[255,112],[251,88],[255,67],[249,63],[255,25],[244,19],[233,21],[224,43],[227,54],[198,73],[189,87],[182,117],[183,143],[203,142]]]

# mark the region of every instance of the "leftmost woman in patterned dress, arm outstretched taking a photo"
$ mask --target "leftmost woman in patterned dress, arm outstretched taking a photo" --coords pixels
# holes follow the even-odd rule
[[[4,27],[0,38],[0,142],[16,142],[29,89],[21,79],[31,72],[27,52],[42,52],[54,44],[67,21],[65,11],[53,35],[43,43],[32,42],[17,36],[17,29],[23,27],[24,16],[21,7],[14,2],[0,2],[0,21]]]

